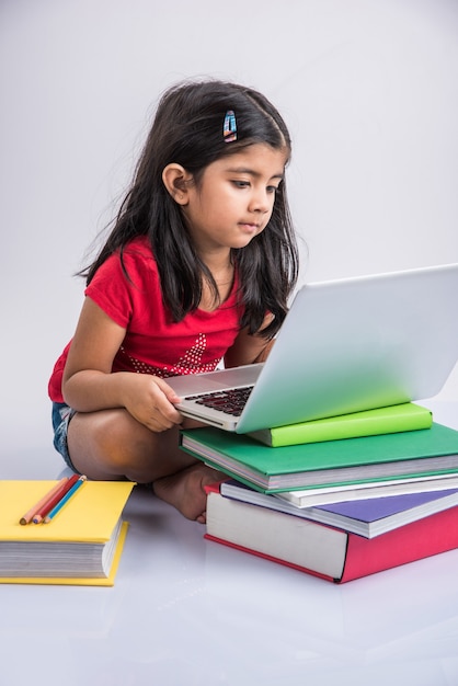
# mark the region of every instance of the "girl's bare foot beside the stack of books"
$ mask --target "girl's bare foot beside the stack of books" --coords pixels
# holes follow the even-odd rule
[[[158,479],[152,488],[158,498],[176,507],[187,519],[205,524],[207,494],[204,487],[227,478],[227,475],[197,462]]]

